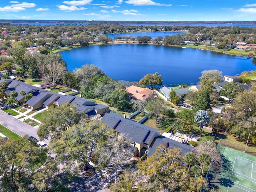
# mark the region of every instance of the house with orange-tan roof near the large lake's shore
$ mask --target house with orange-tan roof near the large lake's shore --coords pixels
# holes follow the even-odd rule
[[[126,91],[129,94],[130,99],[139,99],[139,100],[146,100],[148,96],[154,92],[149,88],[142,88],[137,86],[130,86],[126,88]]]

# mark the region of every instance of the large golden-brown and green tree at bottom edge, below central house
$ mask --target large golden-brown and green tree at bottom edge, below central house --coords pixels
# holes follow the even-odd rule
[[[161,145],[156,152],[138,167],[142,191],[186,191],[189,188],[189,174],[182,165],[181,151]]]

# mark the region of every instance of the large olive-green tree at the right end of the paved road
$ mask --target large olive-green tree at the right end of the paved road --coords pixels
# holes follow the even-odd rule
[[[51,141],[61,138],[64,131],[74,124],[78,124],[83,113],[78,112],[76,105],[63,103],[61,106],[49,107],[44,114],[42,123],[38,128],[38,136],[41,140],[51,138]]]

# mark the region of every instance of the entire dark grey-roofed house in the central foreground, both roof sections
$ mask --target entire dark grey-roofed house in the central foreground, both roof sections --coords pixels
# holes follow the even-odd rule
[[[170,149],[179,148],[182,151],[182,156],[194,150],[189,145],[161,136],[159,130],[125,118],[120,114],[107,113],[102,117],[102,121],[114,129],[118,137],[124,136],[130,141],[130,145],[134,147],[134,156],[142,156],[146,152],[149,157],[161,144],[168,144]]]

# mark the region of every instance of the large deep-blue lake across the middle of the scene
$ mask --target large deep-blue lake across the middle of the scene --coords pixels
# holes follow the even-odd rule
[[[207,50],[170,46],[116,44],[85,46],[61,52],[68,70],[94,64],[116,80],[139,81],[158,72],[163,84],[196,84],[203,70],[217,69],[223,75],[256,70],[252,58]]]

